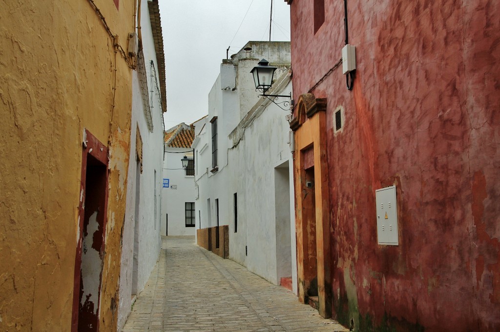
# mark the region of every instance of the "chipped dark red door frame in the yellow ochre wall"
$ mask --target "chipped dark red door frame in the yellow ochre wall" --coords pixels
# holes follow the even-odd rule
[[[80,177],[80,194],[79,194],[79,204],[78,204],[78,242],[76,244],[76,255],[75,255],[75,264],[74,264],[74,288],[73,288],[73,309],[71,314],[71,332],[78,332],[78,308],[79,308],[79,293],[80,293],[80,270],[81,270],[81,250],[82,250],[82,240],[83,240],[83,223],[85,216],[85,181],[86,181],[86,172],[87,172],[87,157],[90,155],[93,158],[97,159],[100,163],[102,163],[106,167],[106,186],[108,187],[108,156],[107,156],[107,147],[103,145],[99,140],[92,135],[87,129],[84,129],[84,137],[83,137],[83,149],[81,153],[81,177]],[[106,231],[106,222],[107,222],[107,196],[108,192],[105,191],[104,197],[104,218],[102,223],[102,247],[100,251],[100,255],[104,253],[104,239],[105,239],[105,231]],[[100,279],[102,280],[102,271],[100,274]],[[100,303],[100,287],[99,285],[99,295],[98,302]],[[97,315],[99,314],[99,308],[97,308]],[[99,327],[97,324],[97,331]]]

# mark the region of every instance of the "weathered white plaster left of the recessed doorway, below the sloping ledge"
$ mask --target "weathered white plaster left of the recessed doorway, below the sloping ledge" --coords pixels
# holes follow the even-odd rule
[[[279,94],[290,91],[291,83]],[[225,181],[238,194],[237,233],[234,233],[232,193],[229,193],[229,200],[224,202],[224,206],[230,216],[229,257],[246,266],[249,271],[279,285],[280,277],[291,277],[291,259],[289,271],[278,278],[278,257],[286,254],[291,258],[291,252],[288,248],[288,252],[283,253],[282,243],[276,242],[276,237],[279,239],[281,234],[276,233],[276,204],[279,201],[276,202],[274,190],[275,169],[286,161],[289,161],[291,169],[292,156],[288,145],[289,126],[284,119],[287,112],[263,101],[261,103],[265,106],[260,110],[252,108],[261,113],[242,122],[229,136],[234,145],[229,150],[229,174],[225,175]],[[293,194],[288,191],[288,204],[290,198],[293,198]],[[288,213],[289,225],[293,220],[289,215],[289,205],[281,208]],[[278,223],[282,222],[279,217],[282,216],[278,216]],[[291,239],[290,230],[295,228],[292,224],[293,227],[288,227],[288,233],[282,236]]]

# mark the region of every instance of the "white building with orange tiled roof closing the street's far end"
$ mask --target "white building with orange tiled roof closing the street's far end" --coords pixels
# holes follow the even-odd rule
[[[185,123],[165,132],[161,235],[194,236],[196,233],[193,139],[194,127]],[[182,168],[184,157],[188,160],[186,169]]]

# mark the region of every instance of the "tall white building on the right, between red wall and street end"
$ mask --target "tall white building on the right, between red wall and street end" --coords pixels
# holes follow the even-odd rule
[[[196,228],[228,225],[229,258],[275,285],[292,278],[296,294],[290,112],[259,97],[250,74],[265,58],[278,67],[267,93],[290,95],[289,42],[244,48],[223,60],[208,116],[194,123]]]

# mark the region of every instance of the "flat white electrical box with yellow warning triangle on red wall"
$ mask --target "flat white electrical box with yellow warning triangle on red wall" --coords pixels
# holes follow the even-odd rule
[[[379,245],[399,245],[397,234],[396,187],[375,190],[376,230]]]

